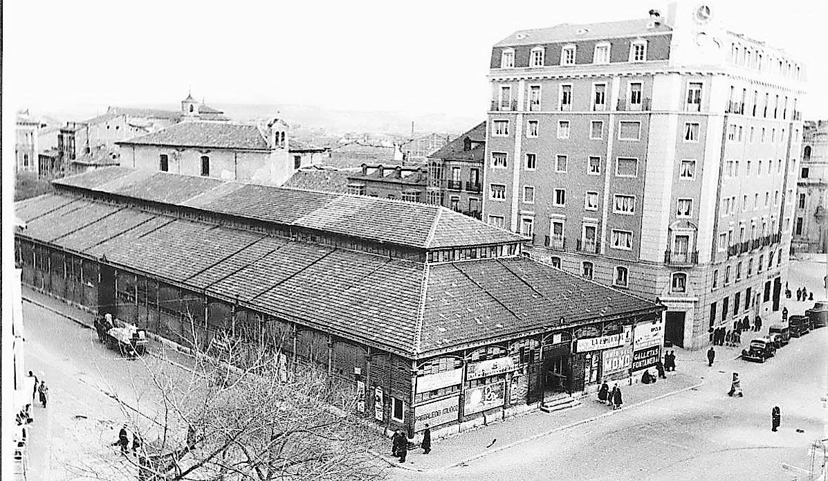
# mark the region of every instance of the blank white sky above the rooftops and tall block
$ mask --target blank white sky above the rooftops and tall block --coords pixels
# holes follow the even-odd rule
[[[695,1],[695,0],[690,0]],[[708,2],[731,31],[806,62],[805,118],[828,118],[822,0]],[[513,31],[667,11],[666,0],[3,2],[7,107],[298,103],[484,117],[491,46]],[[11,103],[12,105],[9,105]]]

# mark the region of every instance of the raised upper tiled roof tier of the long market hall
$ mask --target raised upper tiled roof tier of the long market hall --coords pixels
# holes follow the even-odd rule
[[[232,180],[109,167],[54,185],[219,214],[313,228],[416,248],[514,243],[521,238],[445,207],[363,195],[294,190]]]

